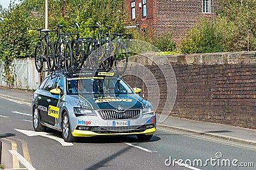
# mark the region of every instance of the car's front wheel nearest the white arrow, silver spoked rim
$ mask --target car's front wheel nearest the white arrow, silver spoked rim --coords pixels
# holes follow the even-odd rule
[[[76,138],[74,138],[74,136],[71,134],[71,127],[70,127],[67,111],[63,113],[63,117],[61,121],[61,131],[62,131],[62,136],[65,142],[75,141]]]

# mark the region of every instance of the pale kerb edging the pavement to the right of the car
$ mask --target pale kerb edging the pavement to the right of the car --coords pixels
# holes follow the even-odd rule
[[[185,129],[185,128],[182,128],[182,127],[175,127],[175,126],[170,126],[170,125],[157,124],[157,126],[162,127],[163,129],[174,129],[174,130],[178,130],[178,131],[182,131],[182,132],[189,132],[189,133],[193,133],[193,134],[209,136],[209,137],[212,137],[212,138],[225,139],[225,140],[228,140],[228,141],[234,141],[234,142],[237,142],[237,143],[243,143],[243,144],[247,144],[247,145],[255,145],[256,146],[256,141],[252,141],[252,140],[248,140],[248,139],[235,138],[235,137],[232,137],[232,136],[225,136],[225,135],[221,135],[221,134],[212,134],[212,133],[196,131],[196,130],[193,130],[193,129]]]

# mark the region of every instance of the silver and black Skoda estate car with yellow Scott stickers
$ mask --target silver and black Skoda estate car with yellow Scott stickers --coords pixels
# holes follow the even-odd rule
[[[33,127],[61,131],[66,142],[109,135],[150,140],[156,131],[155,111],[134,91],[115,73],[51,73],[34,93]]]

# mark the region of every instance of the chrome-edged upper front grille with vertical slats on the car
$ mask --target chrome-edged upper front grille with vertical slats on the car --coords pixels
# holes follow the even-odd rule
[[[116,120],[116,119],[135,119],[140,117],[140,110],[99,110],[100,117],[104,120]]]

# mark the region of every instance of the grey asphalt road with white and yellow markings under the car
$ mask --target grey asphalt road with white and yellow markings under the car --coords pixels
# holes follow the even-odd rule
[[[31,120],[31,104],[0,98],[0,139],[3,145],[1,163],[6,169],[256,167],[256,147],[251,145],[160,127],[149,142],[138,141],[135,136],[124,136],[81,138],[76,143],[64,143],[61,132],[51,129],[45,133],[34,132]],[[186,162],[190,166],[179,166],[178,162]]]

